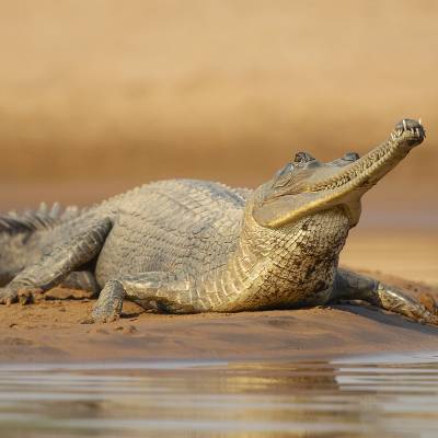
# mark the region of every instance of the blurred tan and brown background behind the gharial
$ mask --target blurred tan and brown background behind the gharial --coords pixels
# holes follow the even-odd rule
[[[438,280],[438,2],[0,0],[0,210],[163,177],[254,186],[298,150],[364,153],[422,117],[427,141],[367,195],[360,229],[423,233],[395,237],[384,258],[412,260],[424,242],[414,258],[429,251]]]

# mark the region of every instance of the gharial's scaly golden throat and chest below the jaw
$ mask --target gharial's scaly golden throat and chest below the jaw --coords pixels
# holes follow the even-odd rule
[[[227,263],[197,283],[199,308],[235,312],[325,303],[348,229],[341,209],[278,229],[261,227],[246,214]]]

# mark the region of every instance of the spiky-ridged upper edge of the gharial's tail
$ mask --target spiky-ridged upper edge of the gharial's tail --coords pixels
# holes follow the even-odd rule
[[[37,210],[25,210],[21,215],[16,211],[0,215],[0,233],[19,234],[47,230],[78,217],[82,211],[83,209],[77,206],[62,209],[56,203],[49,208],[42,203]]]

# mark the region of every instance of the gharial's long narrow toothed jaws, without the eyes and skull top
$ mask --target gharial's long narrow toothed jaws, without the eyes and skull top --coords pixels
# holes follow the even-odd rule
[[[389,138],[377,148],[350,164],[337,169],[331,166],[309,174],[308,184],[285,187],[280,196],[269,186],[254,210],[256,221],[269,228],[277,228],[296,221],[304,216],[343,207],[350,227],[360,217],[360,198],[389,171],[402,161],[413,147],[425,139],[425,129],[420,122],[403,119],[395,125]]]

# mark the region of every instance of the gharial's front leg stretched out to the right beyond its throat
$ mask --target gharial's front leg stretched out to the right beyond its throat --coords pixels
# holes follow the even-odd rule
[[[337,269],[331,301],[362,300],[411,320],[438,324],[438,316],[400,289],[347,269]]]

